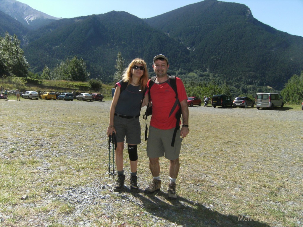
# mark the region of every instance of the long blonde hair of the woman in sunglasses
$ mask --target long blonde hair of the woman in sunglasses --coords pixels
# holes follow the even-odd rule
[[[143,76],[140,78],[140,89],[143,91],[144,88],[147,86],[147,81],[148,81],[148,71],[146,67],[146,62],[141,59],[141,58],[135,58],[132,60],[131,63],[129,63],[128,67],[124,70],[124,73],[122,75],[122,80],[124,82],[128,82],[128,84],[132,83],[132,67],[135,64],[142,64],[144,65],[144,71],[143,71]]]

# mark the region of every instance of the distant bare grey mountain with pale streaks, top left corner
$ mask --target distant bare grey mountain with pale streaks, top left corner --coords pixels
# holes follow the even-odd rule
[[[62,19],[47,15],[15,0],[0,0],[0,11],[15,18],[29,29],[37,29],[49,24],[50,21]]]

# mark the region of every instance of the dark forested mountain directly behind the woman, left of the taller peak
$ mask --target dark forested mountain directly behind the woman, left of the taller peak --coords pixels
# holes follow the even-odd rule
[[[119,51],[127,63],[136,57],[145,59],[150,70],[153,56],[162,51],[172,56],[177,67],[189,58],[185,46],[127,12],[61,19],[30,31],[28,40],[23,49],[36,71],[77,55],[85,60],[92,75],[100,75],[103,81],[114,74]]]

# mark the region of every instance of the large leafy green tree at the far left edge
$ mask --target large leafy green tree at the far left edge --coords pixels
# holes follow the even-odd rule
[[[4,38],[0,37],[0,76],[27,77],[28,67],[20,40],[16,35],[12,37],[6,32]]]

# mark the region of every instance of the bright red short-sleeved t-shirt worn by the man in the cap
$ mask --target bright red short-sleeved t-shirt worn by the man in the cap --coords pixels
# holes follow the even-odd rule
[[[149,84],[150,81],[148,81]],[[179,101],[187,100],[184,84],[180,78],[176,77],[178,99]],[[176,127],[176,113],[179,109],[179,105],[174,107],[176,100],[176,93],[170,86],[169,80],[161,84],[154,83],[150,90],[151,102],[152,102],[152,116],[150,125],[158,129],[171,129]],[[181,124],[181,121],[179,125]]]

